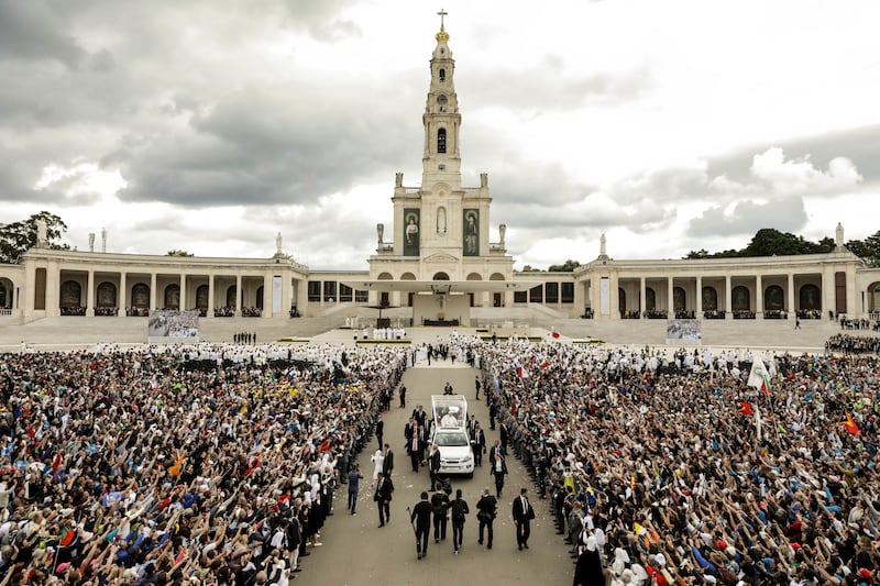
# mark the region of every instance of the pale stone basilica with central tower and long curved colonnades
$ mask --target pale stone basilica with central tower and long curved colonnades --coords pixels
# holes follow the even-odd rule
[[[529,313],[878,318],[880,269],[844,246],[839,224],[827,254],[617,259],[603,236],[597,256],[571,273],[515,272],[506,226],[491,221],[488,174],[480,185],[462,185],[462,113],[449,38],[441,24],[421,117],[420,184],[408,186],[397,174],[393,223],[376,226],[369,270],[305,266],[283,252],[280,235],[270,258],[221,258],[108,253],[94,242],[89,251],[57,251],[42,230],[19,264],[0,265],[0,324],[58,316],[127,319],[156,309],[198,310],[207,319],[341,319],[365,307],[396,309],[411,325],[475,325]]]

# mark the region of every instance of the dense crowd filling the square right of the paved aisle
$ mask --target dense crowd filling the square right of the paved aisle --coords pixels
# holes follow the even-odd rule
[[[880,584],[876,355],[474,346],[575,585]]]

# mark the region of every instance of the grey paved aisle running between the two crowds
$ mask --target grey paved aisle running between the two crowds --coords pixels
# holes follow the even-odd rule
[[[392,520],[378,528],[378,512],[373,502],[370,456],[376,451],[375,435],[360,454],[358,462],[364,479],[358,499],[358,515],[345,511],[346,486],[340,486],[333,500],[334,515],[327,519],[321,530],[319,548],[309,548],[311,555],[301,559],[302,572],[295,574],[293,584],[299,585],[398,585],[419,586],[457,584],[571,584],[574,574],[573,561],[561,535],[554,533],[553,520],[549,513],[549,500],[540,500],[537,488],[520,462],[510,454],[507,457],[509,475],[505,479],[504,494],[498,502],[498,517],[495,519],[495,541],[492,550],[485,543],[476,543],[479,521],[476,502],[483,488],[495,486],[490,476],[484,456],[483,466],[476,468],[473,478],[453,477],[454,490],[461,488],[471,515],[464,524],[464,539],[458,555],[452,553],[452,527],[447,530],[446,541],[433,542],[433,530],[428,542],[428,556],[416,557],[416,538],[409,523],[407,507],[419,500],[419,495],[428,488],[427,467],[416,474],[411,472],[409,456],[404,449],[404,425],[417,405],[422,405],[430,414],[431,395],[442,394],[447,380],[455,392],[468,398],[468,409],[476,416],[486,432],[486,443],[491,446],[498,438],[498,431],[488,429],[488,409],[483,392],[480,401],[474,398],[474,376],[477,371],[461,365],[458,361],[451,367],[449,361],[432,361],[431,366],[419,365],[409,368],[403,384],[407,388],[406,407],[399,407],[395,395],[389,412],[383,413],[385,431],[383,441],[394,452],[394,498]],[[531,523],[529,550],[518,551],[516,531],[510,517],[513,498],[519,488],[529,489],[529,500],[535,507],[536,519]]]

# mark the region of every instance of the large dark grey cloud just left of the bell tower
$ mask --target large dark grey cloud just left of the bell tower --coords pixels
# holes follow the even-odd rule
[[[386,92],[384,110],[340,98],[352,91],[304,84],[226,97],[194,117],[187,132],[116,153],[129,180],[120,198],[186,207],[297,203],[386,178],[421,133],[402,123],[387,90],[373,95]]]

